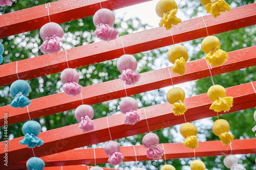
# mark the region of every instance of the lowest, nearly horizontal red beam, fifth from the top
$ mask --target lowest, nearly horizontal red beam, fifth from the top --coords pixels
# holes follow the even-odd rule
[[[161,142],[161,139],[160,139]],[[162,144],[158,144],[162,147]],[[256,139],[236,139],[232,141],[232,154],[254,154],[256,153]],[[184,147],[182,143],[164,143],[164,151],[166,159],[180,159],[194,157],[194,151]],[[136,155],[135,155],[136,152]],[[127,161],[146,161],[146,148],[143,145],[132,147],[121,147],[120,153],[124,156],[124,162]],[[199,142],[199,147],[195,149],[196,157],[228,155],[231,153],[229,145],[223,145],[220,140]],[[108,163],[109,156],[105,154],[104,148],[95,149],[96,164]],[[41,157],[45,161],[46,166],[66,166],[78,164],[94,164],[93,149],[79,149],[61,152],[54,155]],[[164,155],[162,156],[164,159]],[[20,162],[13,166],[26,167],[26,162]]]

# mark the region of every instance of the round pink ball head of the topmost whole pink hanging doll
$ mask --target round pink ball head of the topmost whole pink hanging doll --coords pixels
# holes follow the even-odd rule
[[[114,13],[105,8],[98,10],[93,16],[93,24],[94,26],[99,26],[101,23],[106,23],[113,27],[115,23]]]

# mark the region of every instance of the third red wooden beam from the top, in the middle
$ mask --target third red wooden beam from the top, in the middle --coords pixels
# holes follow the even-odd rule
[[[233,70],[238,70],[256,65],[256,46],[244,48],[242,50],[228,53],[228,61],[211,69],[212,75],[223,74]],[[242,60],[241,60],[242,59]],[[202,79],[210,76],[210,71],[205,59],[195,60],[186,64],[186,74],[180,77],[172,73],[174,84]],[[151,79],[148,79],[150,77]],[[170,86],[168,68],[162,68],[154,71],[148,71],[141,74],[138,84],[126,86],[127,95],[138,94],[145,91],[159,89]],[[119,99],[126,96],[123,83],[117,79],[92,86],[83,87],[83,103],[93,105],[113,99]],[[28,106],[30,117],[37,118],[66,110],[77,108],[81,105],[81,96],[68,96],[64,93],[44,96],[34,99]],[[8,112],[8,123],[14,124],[29,120],[27,108],[12,108],[9,105],[0,107],[0,112]],[[0,114],[0,126],[4,125],[4,114]]]

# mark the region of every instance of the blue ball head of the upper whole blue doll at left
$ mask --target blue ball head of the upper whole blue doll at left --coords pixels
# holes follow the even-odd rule
[[[29,92],[31,91],[30,85],[25,80],[16,80],[12,83],[10,87],[10,93],[15,97],[15,95],[19,92],[22,92],[23,95],[27,96],[29,95]]]

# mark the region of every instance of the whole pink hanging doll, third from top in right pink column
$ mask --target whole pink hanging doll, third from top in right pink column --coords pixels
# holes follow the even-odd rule
[[[138,103],[131,97],[125,97],[119,104],[120,111],[125,114],[125,125],[134,125],[140,122],[140,116],[137,113]]]

